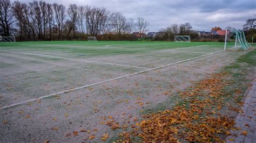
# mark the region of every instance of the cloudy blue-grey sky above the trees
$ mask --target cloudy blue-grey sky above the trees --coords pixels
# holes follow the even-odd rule
[[[32,2],[32,0],[20,0]],[[256,0],[45,0],[49,3],[92,5],[111,12],[122,12],[126,18],[138,16],[150,22],[150,31],[171,24],[189,22],[193,30],[210,31],[211,27],[242,28],[246,19],[256,17]]]

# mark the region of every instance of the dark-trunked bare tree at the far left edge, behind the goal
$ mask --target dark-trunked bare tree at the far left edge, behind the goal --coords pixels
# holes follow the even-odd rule
[[[5,36],[10,35],[11,25],[15,22],[10,0],[0,0],[1,31]]]

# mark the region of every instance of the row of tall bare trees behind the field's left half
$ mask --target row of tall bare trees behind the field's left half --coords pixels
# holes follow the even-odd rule
[[[131,34],[147,32],[143,17],[126,18],[120,12],[89,5],[0,0],[0,35],[15,35],[23,41],[85,39],[87,35]]]

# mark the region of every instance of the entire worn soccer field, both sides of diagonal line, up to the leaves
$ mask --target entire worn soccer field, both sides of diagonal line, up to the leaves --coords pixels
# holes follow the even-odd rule
[[[223,42],[0,43],[0,116],[17,128],[0,126],[0,135],[72,141],[62,135],[81,128],[102,134],[104,117],[122,122],[158,103],[174,104],[178,99],[166,95],[245,53],[223,50]]]

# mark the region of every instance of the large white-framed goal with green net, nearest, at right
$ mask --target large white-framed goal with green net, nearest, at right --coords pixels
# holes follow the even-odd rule
[[[251,46],[245,38],[245,33],[242,30],[236,30],[235,28],[227,28],[225,33],[225,49],[230,50],[242,50],[246,51]]]

